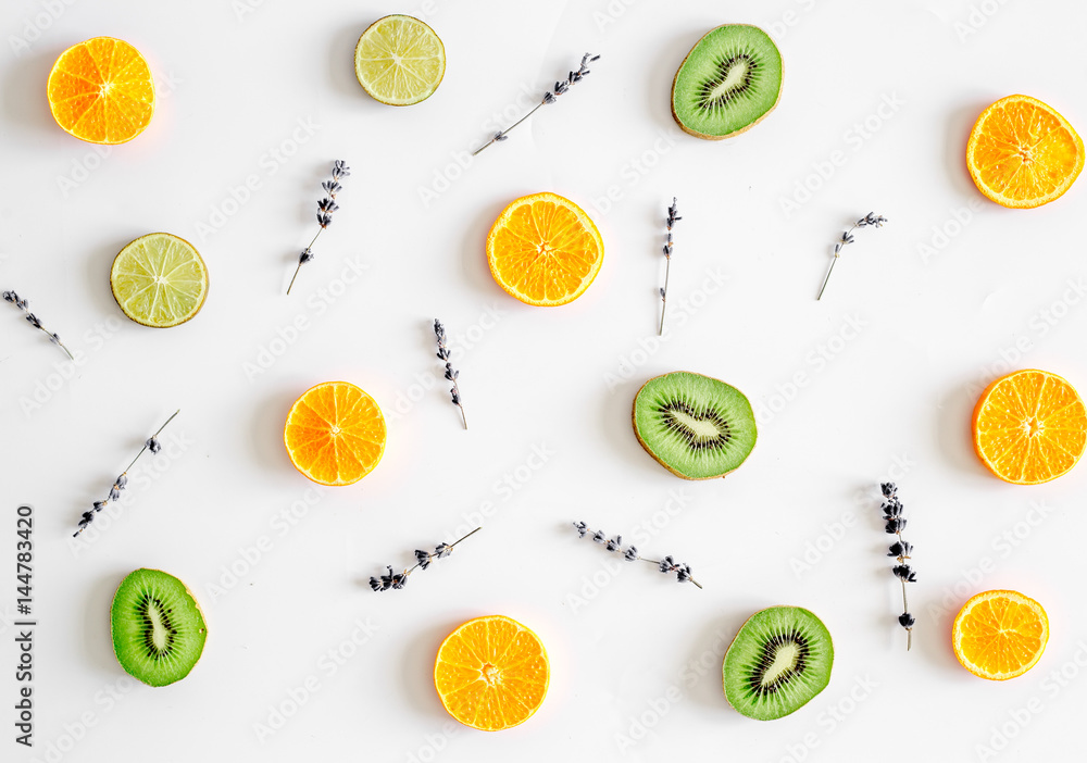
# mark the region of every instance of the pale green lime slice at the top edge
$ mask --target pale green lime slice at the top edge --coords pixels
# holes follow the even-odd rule
[[[411,105],[438,89],[446,73],[446,48],[418,18],[385,16],[359,38],[354,73],[375,100]]]

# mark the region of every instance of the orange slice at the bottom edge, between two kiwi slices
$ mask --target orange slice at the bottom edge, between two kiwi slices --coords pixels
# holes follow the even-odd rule
[[[449,634],[434,663],[446,710],[465,726],[500,731],[544,703],[551,667],[539,637],[502,615],[476,617]]]

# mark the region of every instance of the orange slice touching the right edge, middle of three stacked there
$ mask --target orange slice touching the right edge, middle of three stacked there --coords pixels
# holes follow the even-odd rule
[[[1087,410],[1071,384],[1045,371],[1016,371],[974,406],[974,451],[1005,483],[1057,479],[1087,447]]]

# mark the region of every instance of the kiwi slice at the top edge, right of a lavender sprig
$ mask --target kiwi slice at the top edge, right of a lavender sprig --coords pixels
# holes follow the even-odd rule
[[[725,24],[707,33],[672,82],[672,116],[708,140],[751,129],[782,97],[782,51],[765,32]]]

